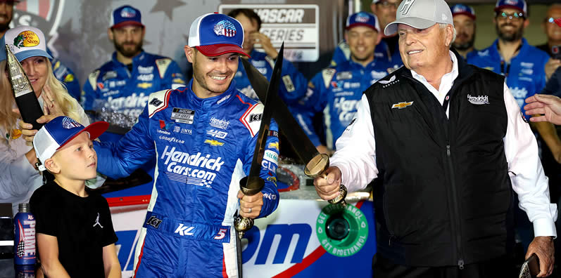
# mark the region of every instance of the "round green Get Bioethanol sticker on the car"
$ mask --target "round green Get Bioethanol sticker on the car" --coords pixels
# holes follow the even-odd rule
[[[338,257],[353,256],[368,238],[368,221],[356,206],[329,204],[317,216],[317,239],[325,251]]]

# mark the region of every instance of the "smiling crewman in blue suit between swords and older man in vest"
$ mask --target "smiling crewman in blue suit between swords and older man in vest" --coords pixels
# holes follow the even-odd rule
[[[345,40],[351,49],[351,60],[317,73],[308,84],[305,98],[291,107],[296,120],[320,152],[334,150],[335,141],[357,111],[363,91],[398,67],[382,58],[375,58],[374,48],[380,41],[379,30],[376,15],[366,12],[350,15],[346,22]],[[312,117],[322,111],[327,149],[311,125]]]

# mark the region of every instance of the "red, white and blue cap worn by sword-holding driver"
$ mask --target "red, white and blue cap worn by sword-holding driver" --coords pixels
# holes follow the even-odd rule
[[[225,53],[246,56],[244,29],[238,20],[222,13],[207,13],[195,19],[189,29],[189,47],[195,47],[203,55],[213,57]]]

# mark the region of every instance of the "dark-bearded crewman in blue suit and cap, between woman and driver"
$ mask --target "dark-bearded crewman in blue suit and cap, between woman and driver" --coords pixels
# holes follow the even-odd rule
[[[172,59],[142,50],[146,29],[139,10],[121,6],[113,11],[111,20],[107,34],[115,45],[115,53],[111,61],[89,74],[82,89],[82,106],[84,110],[106,107],[136,118],[146,106],[150,93],[185,86],[184,77]],[[130,125],[123,127],[130,128]],[[111,134],[100,139],[120,138],[114,133],[113,138],[108,136]]]

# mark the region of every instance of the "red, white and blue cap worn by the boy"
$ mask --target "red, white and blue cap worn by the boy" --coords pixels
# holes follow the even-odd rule
[[[74,119],[66,116],[60,116],[52,119],[45,124],[35,137],[33,138],[33,147],[35,154],[41,165],[39,171],[45,171],[45,161],[53,157],[53,154],[68,142],[76,138],[82,132],[87,132],[90,140],[98,138],[101,133],[105,132],[109,124],[106,121],[96,121],[87,127],[82,126]]]

